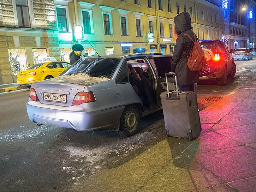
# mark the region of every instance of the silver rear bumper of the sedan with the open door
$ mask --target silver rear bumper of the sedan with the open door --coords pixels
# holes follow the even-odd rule
[[[77,131],[93,131],[103,128],[114,127],[123,113],[124,106],[107,109],[104,111],[77,110],[74,107],[60,107],[58,109],[50,109],[37,107],[36,102],[29,101],[26,104],[29,119],[38,124],[47,124],[58,127],[72,128]],[[45,105],[51,106],[51,105]],[[73,108],[76,111],[72,111]],[[66,109],[66,110],[64,110]]]

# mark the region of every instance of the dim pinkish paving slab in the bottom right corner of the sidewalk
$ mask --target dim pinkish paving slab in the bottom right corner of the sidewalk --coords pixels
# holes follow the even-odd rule
[[[229,183],[231,186],[239,190],[239,192],[255,192],[256,191],[256,176]]]

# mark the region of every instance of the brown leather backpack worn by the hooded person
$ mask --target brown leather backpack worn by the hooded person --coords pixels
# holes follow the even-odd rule
[[[185,33],[182,33],[180,35],[186,35],[194,42],[190,55],[187,55],[185,52],[183,52],[188,58],[187,66],[192,71],[200,71],[203,68],[204,63],[206,62],[206,57],[200,43],[196,40],[196,35],[194,34],[195,40],[193,40],[189,35]]]

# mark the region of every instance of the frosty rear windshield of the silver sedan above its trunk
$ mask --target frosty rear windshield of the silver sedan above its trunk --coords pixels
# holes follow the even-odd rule
[[[61,76],[85,73],[91,77],[110,78],[120,59],[117,58],[87,58],[80,59],[74,65],[67,68]]]

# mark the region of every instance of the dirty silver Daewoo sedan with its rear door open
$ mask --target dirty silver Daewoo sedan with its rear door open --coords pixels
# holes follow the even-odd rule
[[[32,84],[29,119],[77,131],[114,128],[131,136],[142,116],[161,109],[170,61],[171,56],[154,54],[82,58],[60,76]]]

